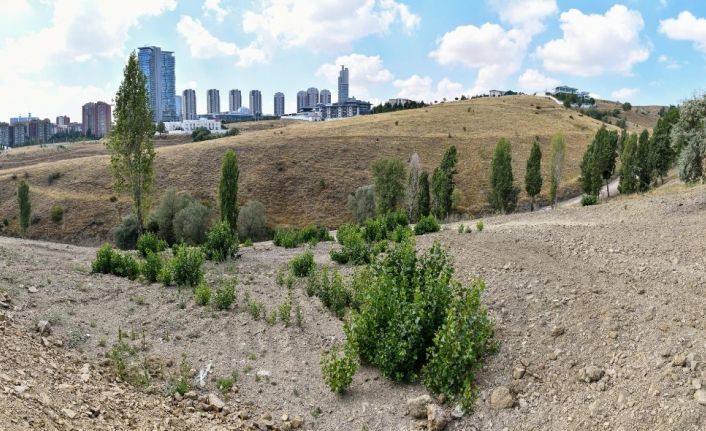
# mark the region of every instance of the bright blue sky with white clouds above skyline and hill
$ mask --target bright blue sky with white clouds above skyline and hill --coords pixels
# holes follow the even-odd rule
[[[677,104],[706,76],[706,2],[696,0],[3,0],[0,121],[80,121],[111,101],[129,53],[176,57],[177,94],[199,113],[217,88],[259,89],[263,110],[285,94],[331,90],[350,69],[350,95],[435,101],[491,89],[570,85],[635,105]]]

